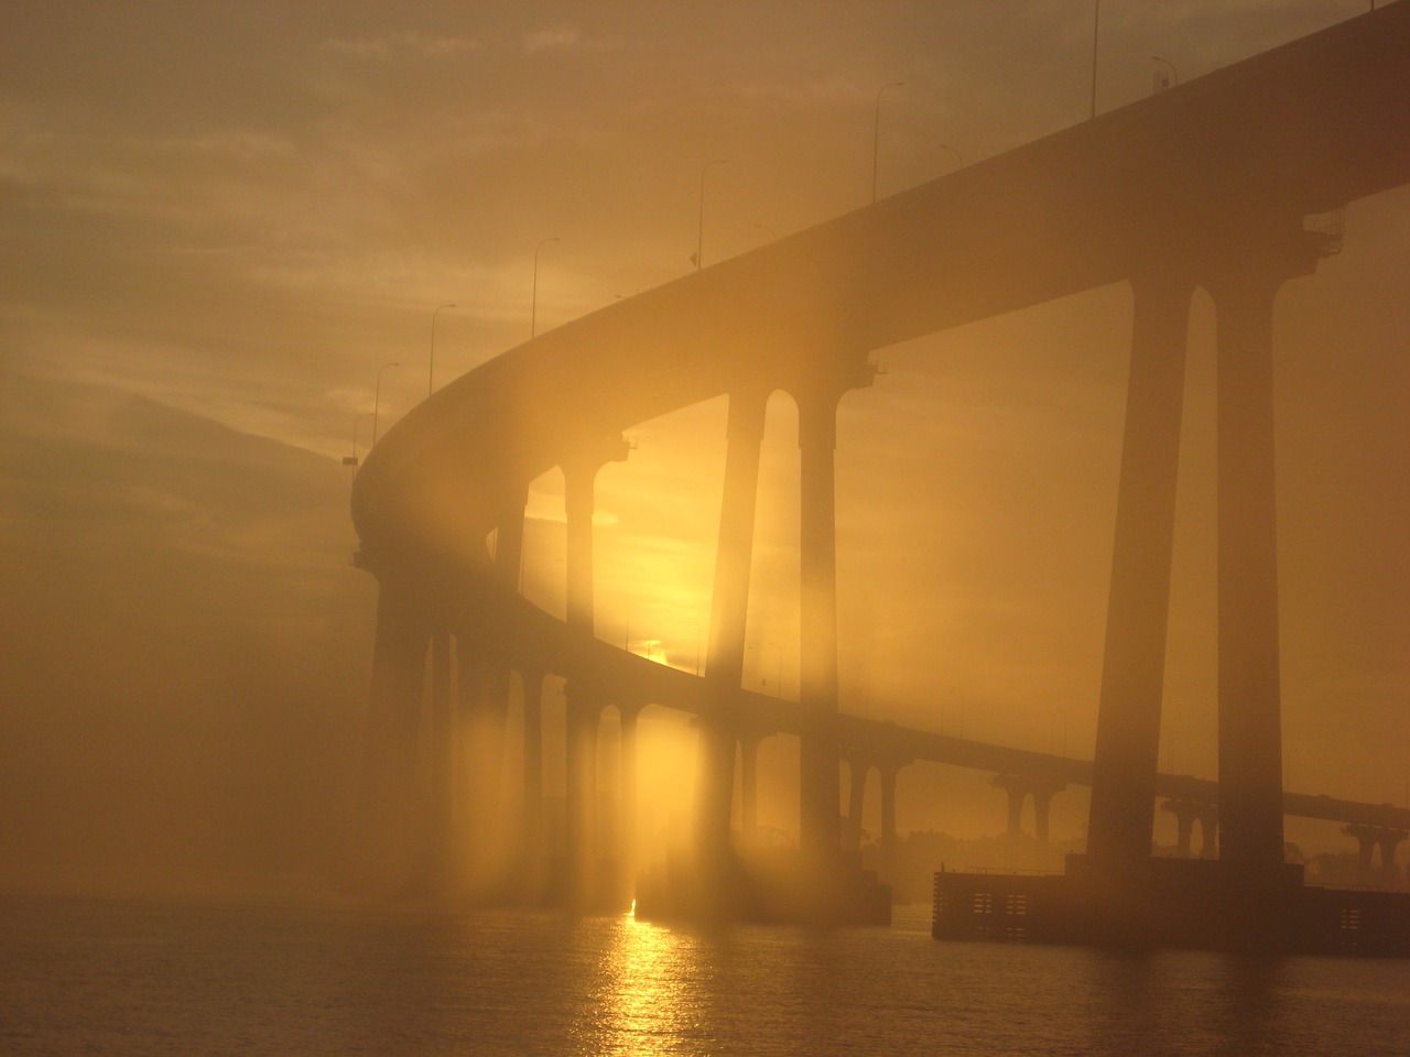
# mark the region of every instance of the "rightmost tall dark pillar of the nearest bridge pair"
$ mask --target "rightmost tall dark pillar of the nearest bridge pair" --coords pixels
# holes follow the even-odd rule
[[[1206,282],[1218,330],[1220,858],[1239,884],[1272,884],[1283,864],[1273,299],[1316,261],[1299,224],[1241,244]]]

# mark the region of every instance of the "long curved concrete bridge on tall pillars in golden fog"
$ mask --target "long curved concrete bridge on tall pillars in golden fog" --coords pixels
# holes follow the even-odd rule
[[[475,805],[457,746],[496,729],[510,671],[525,686],[530,832],[541,798],[539,693],[546,675],[567,679],[567,863],[577,889],[592,885],[602,712],[619,710],[630,768],[647,703],[698,716],[704,863],[729,854],[736,746],[774,730],[799,738],[801,848],[815,864],[835,861],[850,836],[839,810],[839,761],[849,753],[859,767],[943,757],[1090,782],[1093,863],[1149,857],[1158,795],[1217,801],[1221,861],[1255,886],[1282,870],[1289,809],[1404,829],[1404,812],[1282,792],[1272,317],[1283,282],[1313,273],[1338,248],[1334,234],[1308,228],[1308,216],[1410,182],[1407,54],[1402,0],[618,302],[413,409],[368,455],[352,495],[357,561],[379,582],[368,888],[405,888],[424,863],[454,860],[471,839]],[[1134,326],[1096,758],[1021,754],[840,715],[839,400],[871,383],[874,350],[1118,282],[1131,288]],[[1197,286],[1218,321],[1220,775],[1203,785],[1156,768]],[[742,689],[760,443],[777,390],[794,397],[799,421],[797,702]],[[627,458],[623,430],[718,396],[729,402],[728,448],[697,678],[595,638],[594,483],[603,465]],[[529,482],[554,466],[567,507],[563,622],[516,591]],[[856,819],[854,796],[849,808]]]

